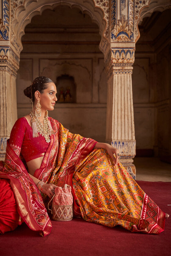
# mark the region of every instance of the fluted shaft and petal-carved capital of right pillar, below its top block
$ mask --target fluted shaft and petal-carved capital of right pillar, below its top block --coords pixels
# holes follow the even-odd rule
[[[133,117],[132,65],[135,47],[111,48],[112,65],[108,66],[106,141],[120,151],[120,161],[136,177],[133,158],[136,141]]]

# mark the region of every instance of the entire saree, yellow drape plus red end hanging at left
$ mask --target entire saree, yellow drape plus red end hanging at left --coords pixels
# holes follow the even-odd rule
[[[109,227],[121,225],[132,232],[159,234],[164,230],[165,213],[142,191],[121,163],[115,167],[104,149],[93,150],[96,141],[70,133],[52,118],[50,121],[56,134],[51,135],[42,165],[34,176],[56,186],[70,185],[75,216]],[[18,196],[17,187],[20,195],[27,198],[24,201],[20,200],[20,195],[16,198],[22,219],[31,229],[47,235],[51,230],[45,209],[49,198],[44,194],[40,196],[21,163],[8,145],[5,165],[4,162],[0,164],[0,177],[5,178],[8,174],[15,197]],[[27,214],[20,209],[26,209]]]

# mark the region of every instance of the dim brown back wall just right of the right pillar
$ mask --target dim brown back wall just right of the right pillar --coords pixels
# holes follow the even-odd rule
[[[136,56],[132,74],[136,149],[153,149],[155,108],[150,100],[150,58]]]

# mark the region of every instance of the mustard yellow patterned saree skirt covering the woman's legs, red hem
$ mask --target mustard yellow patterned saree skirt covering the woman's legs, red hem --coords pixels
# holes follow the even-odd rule
[[[73,175],[82,217],[109,227],[121,225],[132,232],[162,232],[165,213],[121,163],[115,167],[105,150],[94,151],[76,167]]]

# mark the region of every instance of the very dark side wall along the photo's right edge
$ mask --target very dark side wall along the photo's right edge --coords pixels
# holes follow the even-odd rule
[[[170,47],[166,46],[157,54],[157,144],[162,156],[171,155],[171,80],[170,80]]]

